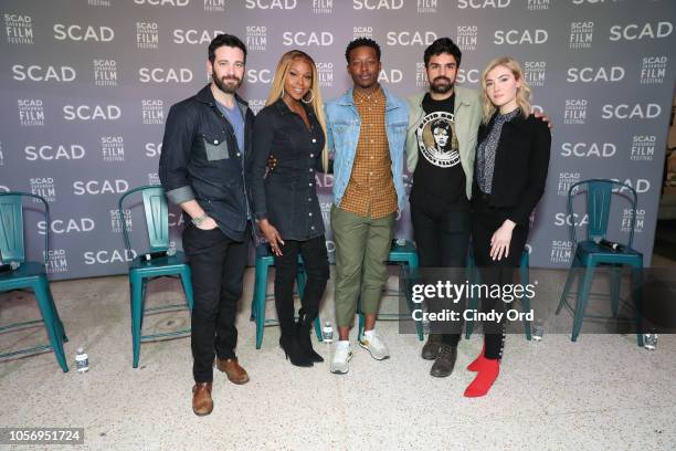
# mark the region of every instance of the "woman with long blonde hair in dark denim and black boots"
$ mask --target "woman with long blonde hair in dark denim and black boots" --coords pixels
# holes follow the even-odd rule
[[[315,171],[328,167],[324,106],[315,62],[306,53],[285,53],[254,126],[250,183],[256,222],[275,259],[275,305],[279,345],[293,365],[324,361],[313,349],[310,328],[329,277],[324,221]],[[268,157],[276,164],[267,168]],[[294,283],[298,254],[307,283],[295,323]]]

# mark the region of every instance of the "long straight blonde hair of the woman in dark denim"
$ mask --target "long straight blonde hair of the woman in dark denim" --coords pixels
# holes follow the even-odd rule
[[[324,102],[321,99],[321,92],[319,91],[319,75],[317,74],[317,65],[315,64],[315,61],[307,53],[300,50],[291,50],[282,55],[279,62],[277,63],[277,70],[275,71],[275,76],[270,88],[270,94],[267,95],[267,101],[265,101],[265,106],[272,105],[273,103],[277,102],[279,97],[282,97],[284,92],[284,82],[288,76],[291,65],[295,60],[303,60],[308,63],[310,67],[313,67],[313,84],[309,91],[311,101],[308,102],[308,105],[313,108],[313,113],[315,113],[315,116],[321,126],[321,132],[324,133],[326,143],[326,116],[324,115]],[[321,150],[321,165],[324,166],[325,171],[328,170],[328,150],[326,144]]]

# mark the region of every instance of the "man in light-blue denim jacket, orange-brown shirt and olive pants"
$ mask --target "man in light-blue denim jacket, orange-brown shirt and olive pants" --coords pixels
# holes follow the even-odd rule
[[[397,214],[405,202],[403,156],[408,106],[378,83],[380,46],[350,42],[346,59],[353,88],[326,104],[327,138],[334,153],[331,229],[336,243],[336,322],[339,340],[331,373],[345,374],[352,356],[349,332],[357,301],[366,316],[360,346],[377,360],[389,350],[376,333],[376,315],[387,282]]]

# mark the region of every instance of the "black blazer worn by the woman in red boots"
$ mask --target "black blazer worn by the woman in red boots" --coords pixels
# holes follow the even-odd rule
[[[488,136],[488,124],[479,126],[477,143]],[[551,133],[549,126],[532,114],[518,115],[503,125],[495,155],[489,206],[504,209],[507,219],[519,226],[528,218],[545,192]],[[478,159],[475,160],[475,174]],[[478,192],[476,177],[474,193]]]

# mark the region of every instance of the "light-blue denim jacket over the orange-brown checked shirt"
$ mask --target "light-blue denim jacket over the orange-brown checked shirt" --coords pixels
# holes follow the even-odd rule
[[[405,101],[390,94],[384,87],[381,88],[385,95],[385,132],[392,160],[392,179],[397,191],[397,204],[399,211],[402,211],[406,197],[403,185],[403,157],[409,107]],[[334,203],[339,207],[352,174],[361,126],[361,118],[352,98],[352,88],[335,101],[327,102],[325,112],[328,148],[334,154]]]

